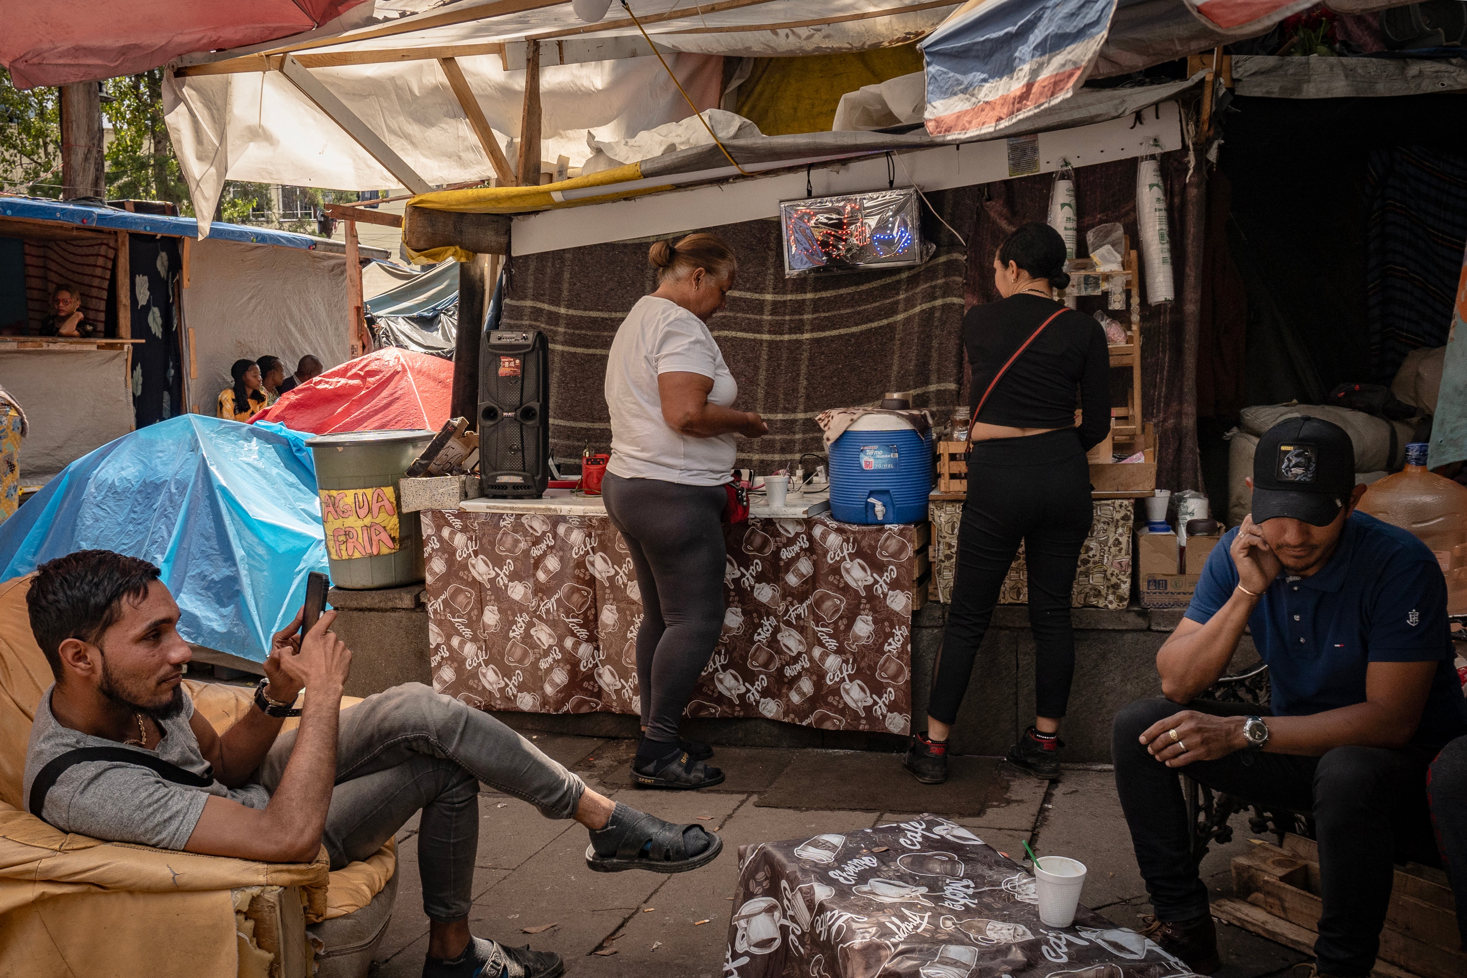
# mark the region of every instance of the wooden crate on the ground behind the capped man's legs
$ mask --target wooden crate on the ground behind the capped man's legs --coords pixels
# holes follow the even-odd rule
[[[1300,836],[1284,846],[1257,842],[1232,859],[1238,899],[1212,905],[1212,915],[1262,937],[1311,952],[1319,930],[1319,848]],[[1395,871],[1391,905],[1380,931],[1375,974],[1461,978],[1467,953],[1460,949],[1455,900],[1445,874],[1408,865]]]

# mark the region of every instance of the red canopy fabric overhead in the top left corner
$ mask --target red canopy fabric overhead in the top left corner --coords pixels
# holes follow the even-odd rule
[[[0,63],[16,88],[136,75],[191,51],[312,31],[362,0],[12,0]]]

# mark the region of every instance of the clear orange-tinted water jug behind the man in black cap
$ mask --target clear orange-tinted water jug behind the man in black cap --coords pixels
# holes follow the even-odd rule
[[[1424,441],[1405,446],[1405,469],[1370,485],[1360,510],[1410,529],[1446,575],[1446,613],[1467,614],[1467,487],[1426,468]]]

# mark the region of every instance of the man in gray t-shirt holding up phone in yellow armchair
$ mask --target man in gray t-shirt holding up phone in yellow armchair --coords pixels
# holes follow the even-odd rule
[[[327,611],[274,635],[267,682],[223,735],[182,689],[188,644],[158,569],[106,550],[41,565],[26,595],[56,683],[35,711],[26,806],[63,831],[111,842],[332,868],[374,853],[421,811],[418,861],[430,919],[425,978],[552,978],[560,957],[468,930],[480,782],[547,818],[590,830],[600,872],[682,872],[722,840],[590,790],[493,717],[420,683],[340,710],[351,651]],[[298,730],[280,733],[305,689]]]

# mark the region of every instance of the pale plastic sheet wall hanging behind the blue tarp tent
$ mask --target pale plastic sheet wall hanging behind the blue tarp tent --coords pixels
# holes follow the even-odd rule
[[[197,240],[183,324],[192,334],[191,409],[214,413],[236,359],[279,356],[286,369],[307,353],[326,367],[346,359],[346,258],[317,251]]]

